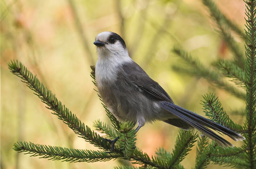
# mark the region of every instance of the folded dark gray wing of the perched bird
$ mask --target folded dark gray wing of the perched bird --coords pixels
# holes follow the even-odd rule
[[[129,78],[136,87],[161,101],[173,103],[171,97],[164,89],[156,81],[153,81],[137,63],[132,62],[124,64],[123,69],[127,78]]]

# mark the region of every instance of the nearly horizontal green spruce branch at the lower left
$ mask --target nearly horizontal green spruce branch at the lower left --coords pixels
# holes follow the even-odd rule
[[[13,144],[13,150],[26,152],[25,154],[31,154],[31,156],[41,156],[40,158],[68,162],[98,162],[121,158],[118,154],[109,154],[105,151],[69,149],[21,141]]]

